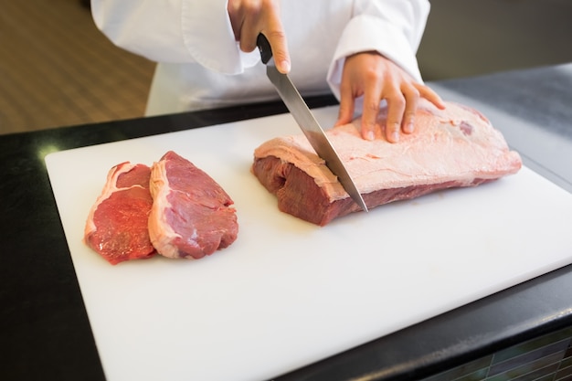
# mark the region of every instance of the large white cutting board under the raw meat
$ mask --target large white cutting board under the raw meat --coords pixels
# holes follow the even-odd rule
[[[572,262],[572,195],[526,167],[324,228],[282,214],[249,166],[288,133],[283,114],[46,157],[109,381],[268,379]],[[238,239],[206,259],[111,266],[81,241],[90,206],[112,165],[168,150],[227,190]]]

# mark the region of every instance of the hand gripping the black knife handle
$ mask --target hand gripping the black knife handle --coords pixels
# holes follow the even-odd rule
[[[286,34],[280,18],[278,0],[228,0],[230,24],[240,50],[251,52],[257,48],[256,40],[262,33],[270,42],[276,69],[283,74],[290,72],[290,54]]]

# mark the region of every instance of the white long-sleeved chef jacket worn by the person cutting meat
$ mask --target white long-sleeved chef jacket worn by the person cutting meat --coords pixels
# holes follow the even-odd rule
[[[111,41],[159,63],[147,115],[278,99],[258,49],[240,51],[227,4],[91,0]],[[428,15],[428,0],[282,0],[291,79],[302,95],[331,90],[339,99],[344,58],[375,50],[421,82],[415,55]]]

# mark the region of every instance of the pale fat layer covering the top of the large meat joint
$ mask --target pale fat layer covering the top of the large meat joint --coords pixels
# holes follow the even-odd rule
[[[326,133],[361,194],[450,181],[471,185],[475,178],[495,179],[521,168],[520,155],[509,150],[501,132],[480,112],[452,102],[446,105],[441,111],[421,103],[415,132],[402,133],[398,143],[384,138],[383,112],[372,142],[362,139],[359,119]],[[302,134],[263,143],[254,156],[275,156],[295,165],[312,176],[331,201],[348,197]]]

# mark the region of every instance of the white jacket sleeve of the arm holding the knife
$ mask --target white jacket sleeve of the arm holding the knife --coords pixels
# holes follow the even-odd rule
[[[238,74],[260,59],[238,48],[227,0],[91,0],[91,13],[115,45],[153,61]]]

